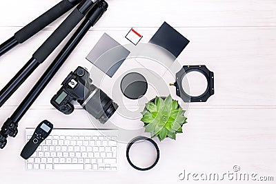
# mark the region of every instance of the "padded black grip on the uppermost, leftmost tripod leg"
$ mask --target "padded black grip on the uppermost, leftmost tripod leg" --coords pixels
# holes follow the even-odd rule
[[[63,0],[59,2],[56,6],[52,7],[44,14],[41,14],[40,17],[16,32],[14,34],[14,38],[19,43],[23,43],[24,41],[30,39],[30,37],[32,37],[34,34],[37,34],[37,32],[45,28],[47,25],[61,17],[61,15],[68,12],[68,10],[72,9],[80,1],[81,0],[70,2],[68,0]]]

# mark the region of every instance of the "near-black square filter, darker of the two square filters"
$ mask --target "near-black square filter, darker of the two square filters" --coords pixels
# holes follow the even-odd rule
[[[165,48],[177,58],[190,41],[164,22],[149,42]]]

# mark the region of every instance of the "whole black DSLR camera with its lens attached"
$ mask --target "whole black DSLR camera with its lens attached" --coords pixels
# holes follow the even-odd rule
[[[77,101],[83,109],[106,123],[118,108],[106,93],[92,84],[89,72],[78,67],[61,83],[62,87],[51,99],[51,104],[63,114],[71,114],[75,108],[72,101]]]

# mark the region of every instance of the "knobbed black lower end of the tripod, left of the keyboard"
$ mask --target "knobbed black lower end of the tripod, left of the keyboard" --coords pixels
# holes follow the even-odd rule
[[[7,121],[3,124],[3,127],[0,131],[0,148],[3,149],[3,147],[7,144],[7,138],[8,136],[15,137],[17,136],[18,130],[18,123],[14,123],[11,119],[7,119]]]

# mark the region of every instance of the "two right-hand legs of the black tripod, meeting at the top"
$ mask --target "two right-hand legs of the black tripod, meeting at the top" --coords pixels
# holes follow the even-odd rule
[[[0,131],[1,149],[6,146],[8,136],[15,137],[17,135],[17,127],[20,119],[27,112],[32,103],[34,103],[34,101],[37,99],[37,97],[43,91],[46,85],[48,85],[52,77],[55,76],[59,68],[61,68],[61,65],[64,63],[64,61],[66,61],[66,59],[75,49],[79,41],[81,41],[81,39],[84,37],[86,32],[88,32],[91,26],[97,23],[97,21],[107,10],[107,8],[108,3],[103,0],[96,1],[95,3],[90,0],[81,1],[75,11],[72,12],[72,14],[70,14],[69,17],[65,21],[63,21],[63,23],[59,26],[59,28],[57,28],[57,30],[55,30],[55,32],[49,37],[49,39],[45,43],[43,43],[43,45],[41,45],[41,48],[39,48],[39,52],[35,52],[32,59],[30,59],[26,66],[24,66],[24,68],[20,70],[16,76],[14,76],[14,80],[17,82],[14,83],[14,81],[10,81],[10,83],[14,85],[7,85],[7,88],[3,89],[5,91],[3,94],[7,95],[1,95],[0,99],[6,101],[6,99],[8,99],[8,97],[12,94],[10,92],[14,92],[19,87],[19,85],[21,85],[21,83],[25,81],[28,74],[32,73],[35,68],[37,68],[37,65],[39,65],[39,63],[42,63],[41,61],[44,61],[48,57],[48,55],[50,55],[52,50],[54,50],[55,47],[57,47],[57,45],[59,45],[59,43],[61,42],[61,38],[64,39],[70,32],[69,30],[72,30],[72,28],[74,28],[75,25],[77,25],[77,23],[81,21],[82,17],[84,17],[83,14],[86,14],[86,12],[88,12],[88,14],[86,15],[86,19],[83,21],[83,23],[81,23],[81,25],[76,30],[75,34],[72,35],[68,43],[66,43],[64,48],[58,54],[57,58],[52,62],[46,72],[44,72],[39,81],[37,81],[37,83],[34,85],[26,98],[23,99],[17,110],[15,110],[12,116],[10,116],[10,118],[8,118],[8,120],[3,124],[3,127]]]

